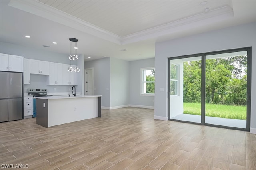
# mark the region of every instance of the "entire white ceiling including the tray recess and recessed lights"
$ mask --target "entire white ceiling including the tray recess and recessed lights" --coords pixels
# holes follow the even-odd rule
[[[68,39],[78,38],[78,53],[85,57],[133,61],[154,57],[155,42],[256,22],[255,0],[201,2],[0,1],[1,42],[68,55]]]

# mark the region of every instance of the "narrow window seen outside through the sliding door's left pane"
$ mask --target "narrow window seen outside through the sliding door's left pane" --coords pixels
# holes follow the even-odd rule
[[[170,95],[178,95],[178,65],[171,63]]]

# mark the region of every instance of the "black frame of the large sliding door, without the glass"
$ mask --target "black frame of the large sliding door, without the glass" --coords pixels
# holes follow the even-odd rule
[[[206,64],[206,55],[216,55],[221,53],[232,53],[232,52],[239,52],[239,51],[247,51],[247,102],[246,102],[246,128],[236,128],[236,127],[228,127],[222,125],[213,125],[205,123],[205,64]],[[196,122],[189,122],[189,121],[181,121],[176,119],[170,118],[170,63],[171,60],[174,59],[183,59],[183,58],[190,58],[190,57],[198,57],[201,56],[202,61],[202,70],[201,70],[201,123]],[[167,87],[167,95],[168,95],[168,109],[167,115],[168,120],[171,121],[178,121],[184,123],[192,123],[198,125],[206,125],[211,127],[219,127],[219,128],[228,128],[234,130],[243,130],[243,131],[250,131],[250,121],[251,121],[251,85],[252,85],[252,47],[244,47],[244,48],[237,48],[237,49],[228,49],[228,50],[221,50],[221,51],[213,51],[207,53],[198,53],[192,55],[183,55],[178,57],[169,57],[168,58],[168,87]]]

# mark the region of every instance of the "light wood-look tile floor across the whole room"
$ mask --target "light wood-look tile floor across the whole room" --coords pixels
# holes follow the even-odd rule
[[[50,128],[36,118],[0,123],[1,169],[256,170],[256,134],[153,116],[126,107]]]

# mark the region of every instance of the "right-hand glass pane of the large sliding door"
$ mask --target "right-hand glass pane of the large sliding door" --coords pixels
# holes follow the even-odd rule
[[[246,128],[247,58],[247,51],[206,55],[206,124]]]

